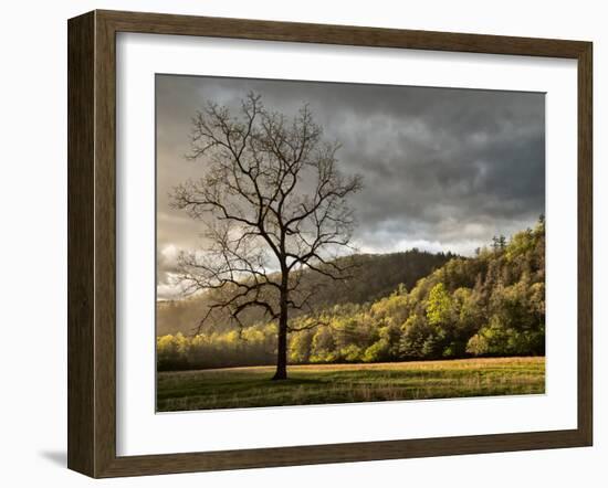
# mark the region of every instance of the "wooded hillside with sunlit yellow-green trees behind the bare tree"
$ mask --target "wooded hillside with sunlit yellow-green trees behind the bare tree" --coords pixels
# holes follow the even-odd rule
[[[408,263],[412,254],[360,256],[374,266],[361,266],[359,280],[326,295],[323,304],[333,305],[321,315],[292,320],[300,331],[290,335],[290,363],[544,354],[544,219],[509,242],[495,238],[475,257],[410,253],[429,267],[416,283],[392,261]],[[434,270],[433,259],[442,261]],[[158,338],[158,368],[272,364],[275,338],[273,323],[167,335]]]

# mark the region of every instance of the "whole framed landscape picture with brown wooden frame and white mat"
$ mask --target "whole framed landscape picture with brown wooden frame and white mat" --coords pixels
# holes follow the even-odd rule
[[[69,21],[69,467],[593,439],[591,43]]]

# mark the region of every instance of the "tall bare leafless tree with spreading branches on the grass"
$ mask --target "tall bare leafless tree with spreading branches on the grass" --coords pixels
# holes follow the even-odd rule
[[[191,153],[205,177],[174,189],[172,205],[203,224],[208,245],[182,253],[187,291],[218,290],[198,331],[214,310],[242,327],[250,308],[277,321],[275,380],[287,376],[290,310],[306,309],[317,287],[304,289],[305,269],[345,278],[333,259],[349,247],[349,194],[360,177],[337,168],[337,142],[327,142],[304,105],[293,119],[266,109],[250,93],[238,115],[209,103],[192,119]]]

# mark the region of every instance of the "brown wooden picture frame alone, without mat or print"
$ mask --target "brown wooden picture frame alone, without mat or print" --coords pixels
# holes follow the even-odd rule
[[[578,425],[566,431],[116,455],[116,33],[548,56],[578,63]],[[589,42],[93,11],[69,21],[69,468],[92,477],[590,446],[593,442]],[[573,209],[574,210],[574,209]]]

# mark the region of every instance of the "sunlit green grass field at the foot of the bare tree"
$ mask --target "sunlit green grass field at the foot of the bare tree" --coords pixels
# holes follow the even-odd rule
[[[495,358],[158,373],[157,410],[242,409],[545,392],[545,358]]]

